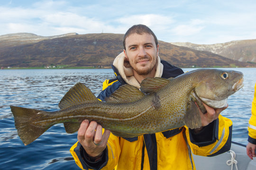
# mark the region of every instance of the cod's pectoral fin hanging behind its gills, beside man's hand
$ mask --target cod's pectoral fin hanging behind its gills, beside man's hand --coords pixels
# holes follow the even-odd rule
[[[201,127],[201,115],[196,104],[191,100],[183,118],[185,125],[191,129]]]

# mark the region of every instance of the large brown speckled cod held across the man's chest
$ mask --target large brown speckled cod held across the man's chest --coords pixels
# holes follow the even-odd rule
[[[243,86],[243,74],[233,70],[196,69],[175,78],[146,78],[137,89],[122,85],[106,102],[98,100],[82,83],[74,85],[59,102],[60,110],[48,112],[10,106],[15,127],[27,145],[49,127],[64,123],[76,132],[84,119],[97,121],[120,137],[135,137],[186,125],[201,127],[195,102],[212,108],[227,106],[228,97]]]

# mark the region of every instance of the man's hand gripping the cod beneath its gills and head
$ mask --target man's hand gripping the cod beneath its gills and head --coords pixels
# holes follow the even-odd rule
[[[198,109],[200,110],[199,106],[197,103],[195,103],[196,106],[198,107]],[[196,128],[194,129],[194,131],[196,133],[200,132],[200,130],[202,129],[202,127],[209,125],[213,120],[216,120],[219,118],[219,114],[221,111],[225,110],[228,108],[228,105],[224,108],[220,108],[220,109],[213,109],[210,106],[207,106],[206,104],[202,103],[203,106],[205,107],[206,113],[201,112],[200,110],[200,114],[201,114],[201,127],[200,128]]]

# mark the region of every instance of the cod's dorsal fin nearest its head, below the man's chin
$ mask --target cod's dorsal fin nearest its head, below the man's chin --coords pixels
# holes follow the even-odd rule
[[[155,78],[145,78],[140,84],[140,90],[143,93],[153,93],[157,89],[163,87],[170,82],[170,79],[155,77]]]

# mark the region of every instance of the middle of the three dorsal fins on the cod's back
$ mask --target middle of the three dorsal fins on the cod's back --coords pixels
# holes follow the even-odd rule
[[[105,99],[106,102],[134,102],[144,97],[139,89],[132,85],[122,85],[114,93]]]

